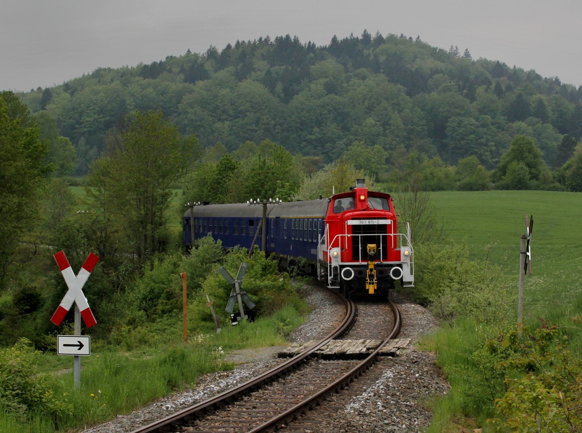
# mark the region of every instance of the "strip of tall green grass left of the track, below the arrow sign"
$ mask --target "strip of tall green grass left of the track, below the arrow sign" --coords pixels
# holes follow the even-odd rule
[[[44,433],[103,423],[116,414],[128,413],[152,400],[189,388],[200,375],[232,368],[233,364],[225,362],[230,350],[285,344],[285,337],[302,322],[296,309],[288,306],[255,322],[229,324],[219,334],[191,336],[187,344],[150,348],[145,355],[142,350],[134,356],[114,347],[93,351],[88,357],[90,360],[83,358],[80,390],[74,389],[72,372],[55,372],[52,391],[73,404],[72,414],[65,414],[58,420],[42,413],[19,417],[0,404],[0,431]],[[159,329],[152,325],[149,331]],[[169,332],[165,327],[163,331]],[[168,339],[175,341],[174,336]],[[42,354],[38,359],[55,367],[62,366],[61,361],[52,362],[47,359],[49,357]],[[46,365],[43,371],[47,371]]]

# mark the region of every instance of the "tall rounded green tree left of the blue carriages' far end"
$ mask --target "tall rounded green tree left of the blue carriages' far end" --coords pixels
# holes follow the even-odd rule
[[[176,182],[199,157],[195,136],[182,137],[162,112],[133,112],[108,136],[90,184],[140,261],[165,251],[166,212]]]

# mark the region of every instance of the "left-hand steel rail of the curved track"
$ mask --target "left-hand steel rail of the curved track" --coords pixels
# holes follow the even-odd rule
[[[335,293],[334,293],[335,294]],[[338,295],[339,297],[339,295]],[[131,433],[151,433],[151,432],[162,432],[168,431],[168,428],[182,424],[181,420],[188,418],[196,418],[200,414],[207,411],[216,409],[228,403],[231,400],[235,400],[246,393],[258,388],[259,386],[265,385],[275,378],[282,376],[290,369],[298,367],[302,362],[308,360],[317,350],[325,346],[330,340],[343,335],[350,326],[353,325],[354,319],[356,317],[356,305],[352,300],[347,300],[346,298],[340,297],[346,304],[346,315],[342,322],[330,332],[324,339],[320,342],[314,343],[312,346],[308,347],[303,353],[291,358],[289,361],[283,362],[283,364],[278,365],[270,369],[269,371],[261,374],[247,382],[242,383],[235,388],[227,390],[217,396],[211,397],[208,400],[194,404],[193,406],[187,407],[186,409],[180,410],[168,417],[162,418],[161,420],[154,421],[154,423],[145,425],[144,427],[137,428]]]

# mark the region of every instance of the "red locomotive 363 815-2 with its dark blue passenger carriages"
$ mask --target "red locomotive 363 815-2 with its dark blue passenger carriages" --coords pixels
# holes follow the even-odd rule
[[[410,227],[398,233],[397,217],[389,194],[368,191],[357,179],[355,188],[328,199],[191,206],[183,241],[191,246],[210,235],[225,248],[257,245],[283,268],[304,259],[345,295],[387,295],[395,281],[414,284]]]

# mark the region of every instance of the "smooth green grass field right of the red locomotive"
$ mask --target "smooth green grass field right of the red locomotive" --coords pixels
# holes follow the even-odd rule
[[[542,308],[579,315],[582,293],[582,194],[551,191],[434,192],[439,223],[466,243],[471,259],[501,265],[519,281],[520,238],[534,217],[532,275],[526,276],[526,316]],[[413,228],[414,230],[414,228]]]

